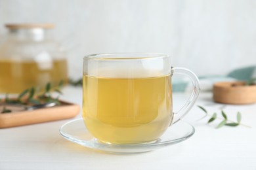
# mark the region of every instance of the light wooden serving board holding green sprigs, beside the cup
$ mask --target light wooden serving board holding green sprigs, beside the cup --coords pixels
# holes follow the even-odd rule
[[[74,103],[60,101],[61,105],[47,107],[35,110],[18,110],[14,109],[10,113],[0,113],[0,128],[24,126],[28,124],[37,124],[73,118],[79,113],[80,107]],[[0,106],[0,110],[3,105]]]

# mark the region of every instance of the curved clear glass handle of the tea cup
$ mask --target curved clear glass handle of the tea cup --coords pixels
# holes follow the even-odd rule
[[[194,103],[196,102],[196,99],[198,98],[198,95],[200,93],[200,82],[198,80],[198,77],[192,71],[181,67],[171,67],[171,75],[188,76],[193,86],[193,90],[190,97],[188,98],[188,101],[186,101],[186,103],[178,112],[173,112],[172,124],[175,124],[188,113],[188,111],[193,107]]]

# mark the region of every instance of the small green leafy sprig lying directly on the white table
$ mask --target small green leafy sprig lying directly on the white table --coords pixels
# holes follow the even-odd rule
[[[235,126],[245,126],[245,127],[250,127],[250,126],[247,126],[245,124],[241,124],[241,120],[242,120],[242,115],[240,112],[237,112],[236,113],[236,122],[232,121],[232,120],[228,120],[228,116],[226,116],[226,113],[224,112],[224,110],[221,110],[221,115],[222,115],[222,118],[219,118],[217,116],[217,113],[214,112],[213,114],[209,114],[207,112],[207,110],[205,108],[203,108],[202,106],[198,106],[201,110],[203,110],[203,112],[205,113],[205,116],[203,116],[203,118],[205,118],[206,116],[209,116],[209,120],[207,122],[207,124],[213,122],[214,120],[216,119],[219,119],[221,120],[221,122],[217,125],[216,128],[220,128],[220,127],[223,127],[223,126],[232,126],[232,127],[235,127]],[[200,119],[201,120],[201,119]]]

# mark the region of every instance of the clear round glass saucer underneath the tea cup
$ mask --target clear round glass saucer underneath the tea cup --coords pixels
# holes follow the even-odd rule
[[[195,128],[193,126],[186,122],[179,121],[169,127],[154,143],[108,144],[100,143],[100,141],[95,139],[95,137],[89,133],[83,123],[83,118],[71,120],[60,127],[60,134],[69,141],[81,144],[87,148],[116,154],[135,154],[156,150],[171,144],[180,143],[191,137],[194,132]]]

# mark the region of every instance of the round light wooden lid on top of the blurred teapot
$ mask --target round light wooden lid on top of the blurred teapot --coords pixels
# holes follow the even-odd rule
[[[46,23],[46,24],[5,24],[5,27],[8,29],[32,29],[32,28],[44,28],[44,29],[52,29],[54,28],[54,24]]]

